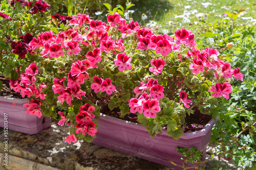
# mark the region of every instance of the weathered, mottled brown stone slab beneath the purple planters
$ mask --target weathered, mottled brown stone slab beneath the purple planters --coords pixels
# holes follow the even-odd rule
[[[4,153],[3,132],[4,129],[0,128],[0,152],[2,153]],[[67,170],[173,169],[154,162],[102,148],[86,141],[77,141],[75,144],[68,144],[64,141],[68,133],[69,127],[60,127],[56,122],[52,123],[51,128],[36,135],[28,135],[9,130],[9,154]],[[213,148],[208,147],[208,150],[209,149]],[[216,166],[214,160],[210,160],[206,163],[205,169],[212,169],[213,166]],[[228,169],[235,169],[232,168],[232,164],[227,165],[227,167]],[[3,166],[2,169],[10,168]],[[19,170],[23,170],[22,166],[19,166]]]

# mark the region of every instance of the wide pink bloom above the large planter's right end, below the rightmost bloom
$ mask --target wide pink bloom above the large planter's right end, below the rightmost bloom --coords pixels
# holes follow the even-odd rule
[[[211,95],[214,96],[215,98],[219,98],[219,96],[222,95],[224,98],[226,98],[226,100],[228,100],[229,99],[228,93],[231,93],[232,89],[231,89],[231,85],[225,82],[224,84],[216,83],[215,86],[211,85],[211,89],[209,89],[208,91],[214,92]]]

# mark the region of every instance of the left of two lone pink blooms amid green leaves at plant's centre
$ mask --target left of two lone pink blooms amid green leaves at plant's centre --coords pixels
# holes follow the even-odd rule
[[[125,55],[125,53],[119,53],[116,59],[114,59],[115,65],[118,66],[119,71],[131,69],[133,67],[131,61],[131,57]]]

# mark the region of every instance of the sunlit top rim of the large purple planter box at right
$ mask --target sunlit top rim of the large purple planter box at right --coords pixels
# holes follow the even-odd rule
[[[137,129],[145,129],[145,127],[142,126],[141,124],[130,122],[128,120],[119,119],[119,118],[112,117],[109,115],[105,115],[103,113],[100,113],[100,117],[104,117],[104,119],[108,119],[115,124],[123,125],[125,123],[125,125],[136,126]],[[95,119],[95,120],[97,121],[97,119]],[[218,120],[219,120],[219,117],[216,117],[216,120],[214,118],[211,118],[210,121],[205,125],[205,127],[202,130],[199,130],[196,132],[190,132],[190,133],[183,133],[183,135],[180,138],[181,139],[191,139],[191,138],[196,138],[199,136],[206,135],[209,131],[211,131],[212,126],[214,126],[214,124]],[[167,130],[163,129],[162,134],[168,136]]]

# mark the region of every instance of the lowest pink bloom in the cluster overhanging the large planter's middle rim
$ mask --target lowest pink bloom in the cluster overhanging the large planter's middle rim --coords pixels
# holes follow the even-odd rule
[[[161,108],[158,106],[159,102],[157,99],[151,99],[144,101],[142,104],[145,117],[155,118],[157,112],[160,112]]]

